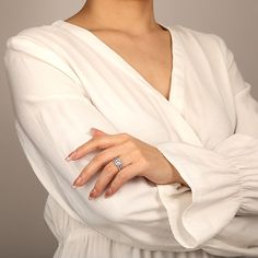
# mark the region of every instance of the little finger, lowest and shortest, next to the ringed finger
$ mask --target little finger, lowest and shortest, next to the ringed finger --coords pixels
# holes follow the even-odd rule
[[[109,197],[117,192],[124,184],[126,184],[131,178],[138,176],[139,169],[137,163],[132,163],[125,168],[122,168],[117,175],[115,176],[114,180],[112,181],[110,186],[105,192],[105,197]]]

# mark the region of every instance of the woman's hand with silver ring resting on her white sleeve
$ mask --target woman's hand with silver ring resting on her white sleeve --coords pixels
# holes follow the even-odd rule
[[[91,151],[104,149],[91,160],[73,183],[74,187],[82,186],[102,168],[89,196],[90,199],[98,197],[109,185],[105,192],[105,197],[108,197],[136,176],[144,176],[155,184],[180,183],[187,185],[176,168],[155,146],[128,133],[108,134],[95,128],[92,129],[92,132],[93,138],[90,141],[77,148],[66,157],[67,161],[75,161]],[[113,162],[116,156],[122,161],[120,171]]]

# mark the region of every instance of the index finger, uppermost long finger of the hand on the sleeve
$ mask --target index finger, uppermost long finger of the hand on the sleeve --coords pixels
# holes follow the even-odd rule
[[[70,160],[78,160],[84,155],[86,155],[89,152],[95,151],[96,149],[106,149],[112,145],[115,145],[117,143],[121,143],[126,140],[125,133],[118,133],[118,134],[104,134],[102,137],[93,137],[87,142],[83,143],[82,145],[78,146],[72,153],[70,154]]]

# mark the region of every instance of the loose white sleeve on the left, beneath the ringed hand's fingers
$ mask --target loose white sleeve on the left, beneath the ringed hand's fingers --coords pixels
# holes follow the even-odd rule
[[[72,188],[98,151],[73,162],[64,157],[92,138],[92,127],[119,131],[93,105],[69,62],[34,38],[17,35],[7,43],[4,63],[19,140],[49,195],[71,216],[112,239],[145,249],[183,250],[171,232],[156,186],[143,177],[128,181],[107,199],[103,195],[87,199],[97,175]]]

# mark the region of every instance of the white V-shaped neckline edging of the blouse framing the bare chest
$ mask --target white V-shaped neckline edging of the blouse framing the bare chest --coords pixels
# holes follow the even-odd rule
[[[179,35],[177,34],[177,27],[179,25],[166,26],[162,23],[159,23],[161,27],[164,27],[168,31],[171,36],[171,52],[173,58],[173,67],[171,71],[171,82],[169,82],[169,93],[168,99],[157,90],[155,89],[132,64],[130,64],[124,57],[121,57],[115,49],[108,46],[104,40],[102,40],[98,36],[96,36],[93,32],[87,30],[86,27],[82,27],[64,20],[57,20],[52,23],[52,25],[63,25],[67,28],[73,28],[79,33],[83,33],[87,35],[89,38],[94,43],[93,46],[99,46],[108,56],[115,58],[115,61],[119,63],[119,68],[124,68],[126,72],[130,72],[134,77],[137,77],[143,84],[146,90],[150,91],[151,94],[157,96],[161,101],[165,102],[168,105],[174,105],[180,113],[184,107],[184,72],[185,72],[185,62],[184,62],[184,52],[183,46],[179,42]]]

